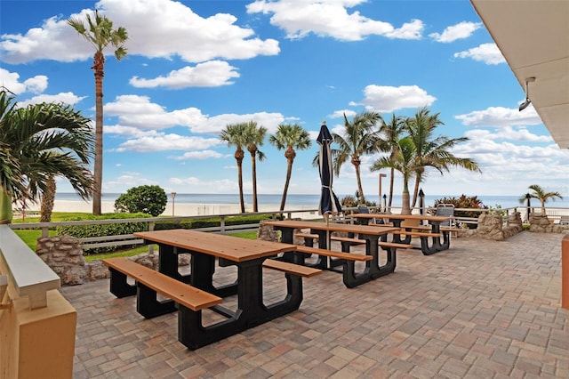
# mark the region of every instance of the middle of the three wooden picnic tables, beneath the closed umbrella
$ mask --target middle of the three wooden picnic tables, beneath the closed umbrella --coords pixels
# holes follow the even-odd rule
[[[387,275],[393,272],[397,265],[395,249],[386,250],[387,257],[384,265],[381,265],[379,262],[379,240],[381,236],[387,235],[389,232],[397,231],[397,228],[301,220],[269,221],[265,222],[264,225],[270,225],[274,229],[280,230],[282,233],[281,241],[286,244],[293,243],[295,230],[309,229],[310,233],[318,235],[318,248],[320,249],[330,249],[330,236],[334,231],[352,233],[358,238],[365,239],[365,254],[372,256],[370,261],[365,262],[365,270],[356,272],[355,265],[353,264],[349,266],[344,265],[344,269],[342,270],[344,284],[350,288]],[[284,253],[282,257],[282,259],[288,262],[307,264],[304,258],[305,255],[294,251]],[[333,265],[328,258],[327,256],[319,255],[317,262],[312,266],[323,270],[332,270]]]

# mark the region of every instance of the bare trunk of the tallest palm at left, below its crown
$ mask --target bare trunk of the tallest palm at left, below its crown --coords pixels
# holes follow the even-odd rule
[[[93,169],[92,214],[100,215],[103,181],[103,77],[105,56],[95,52],[92,69],[95,71],[95,159]]]

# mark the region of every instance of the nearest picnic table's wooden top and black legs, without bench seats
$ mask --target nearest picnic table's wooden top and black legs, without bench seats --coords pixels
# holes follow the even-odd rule
[[[148,244],[158,245],[158,270],[160,272],[220,297],[227,297],[230,294],[237,295],[236,310],[228,310],[221,305],[211,307],[212,310],[227,318],[218,323],[203,327],[201,315],[196,316],[196,312],[188,313],[183,321],[179,319],[179,324],[180,322],[187,323],[184,335],[179,335],[180,342],[193,349],[276,319],[293,310],[298,310],[301,305],[301,275],[289,275],[288,273],[285,275],[287,295],[284,300],[269,305],[263,303],[261,272],[263,262],[276,254],[294,250],[293,245],[196,230],[156,230],[133,234],[137,238],[143,238]],[[191,271],[188,276],[180,276],[178,272],[178,254],[182,253],[192,255]],[[235,265],[237,267],[236,283],[223,287],[213,286],[212,278],[216,259],[220,266]],[[181,328],[179,332],[180,330]]]

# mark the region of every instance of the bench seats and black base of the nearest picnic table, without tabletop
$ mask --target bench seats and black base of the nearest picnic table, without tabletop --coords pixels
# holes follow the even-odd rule
[[[239,278],[238,306],[236,311],[231,311],[220,306],[222,299],[219,296],[209,294],[195,286],[188,286],[127,258],[110,258],[103,260],[103,263],[111,270],[113,294],[119,297],[132,294],[134,286],[128,285],[126,278],[135,279],[138,289],[137,310],[145,318],[156,317],[177,308],[178,340],[190,350],[196,350],[230,335],[236,335],[250,327],[276,319],[293,310],[298,310],[302,302],[302,277],[313,276],[321,272],[321,270],[288,262],[270,262],[264,258],[234,262],[233,264],[237,265]],[[229,262],[223,262],[223,264],[228,265]],[[284,272],[287,294],[282,301],[269,305],[263,304],[262,267]],[[156,300],[156,294],[162,294],[171,300],[159,302]],[[227,319],[204,327],[202,310],[208,308]]]

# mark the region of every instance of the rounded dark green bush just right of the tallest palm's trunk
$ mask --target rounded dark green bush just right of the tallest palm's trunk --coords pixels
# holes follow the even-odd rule
[[[143,185],[132,187],[115,200],[115,211],[128,214],[151,214],[154,217],[164,213],[168,197],[160,186]]]

